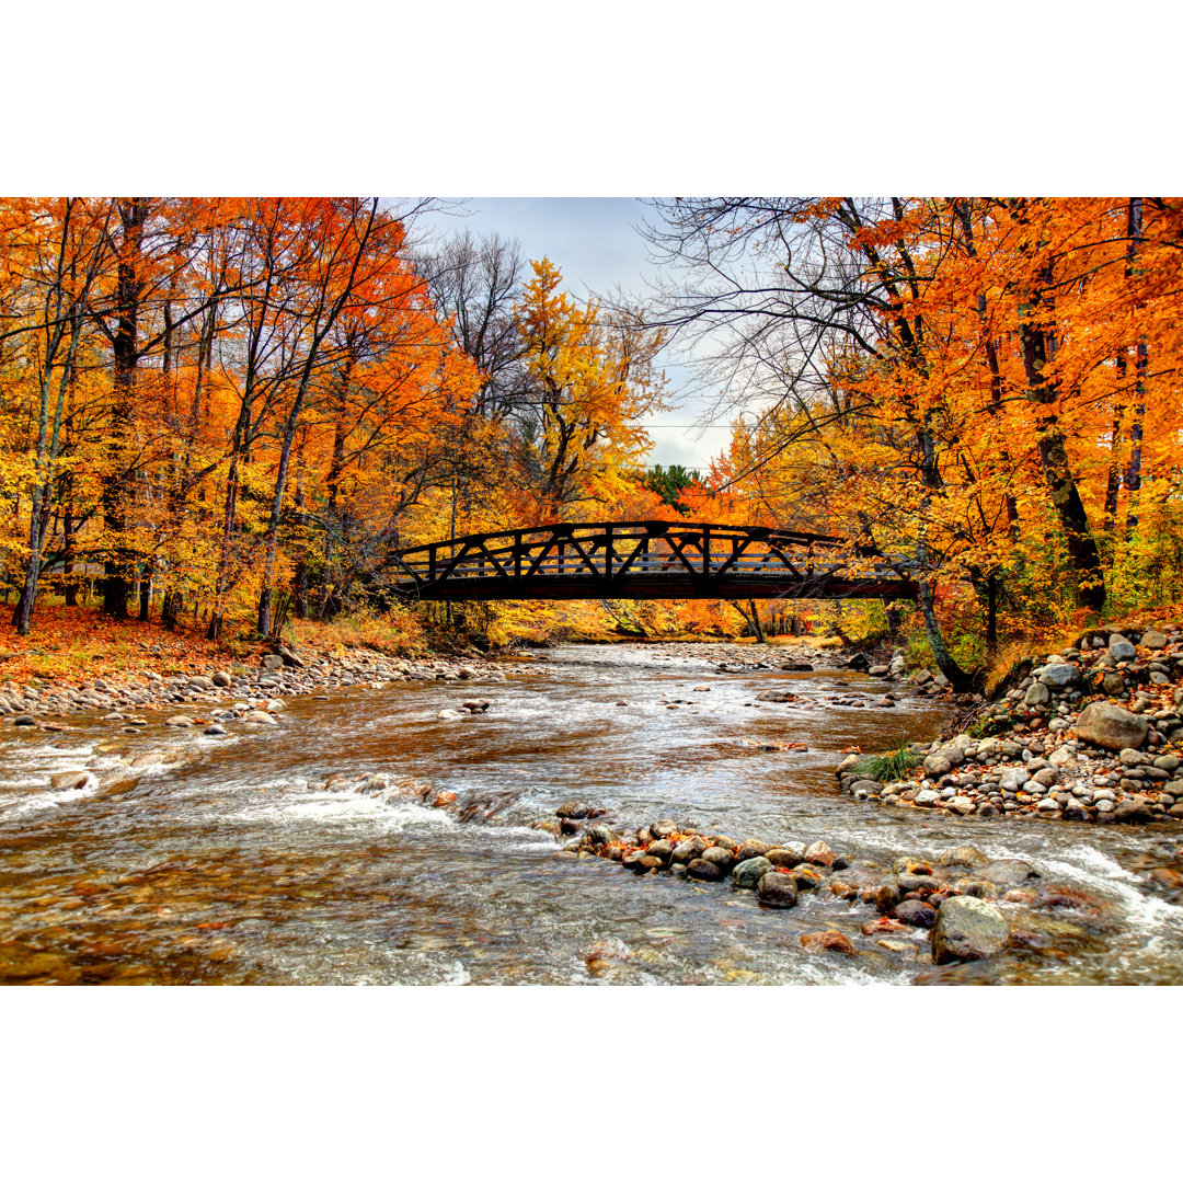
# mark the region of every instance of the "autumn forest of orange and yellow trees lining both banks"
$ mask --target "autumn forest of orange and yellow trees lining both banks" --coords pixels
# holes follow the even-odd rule
[[[679,516],[875,547],[919,582],[918,659],[963,687],[1014,641],[1183,597],[1183,200],[654,199],[658,282],[584,299],[513,241],[416,235],[428,205],[0,200],[18,635],[50,606],[212,642],[415,632],[445,622],[393,593],[400,548]],[[648,463],[678,350],[731,424],[703,472]],[[633,634],[752,626],[593,608]],[[446,626],[504,644],[571,612]]]

